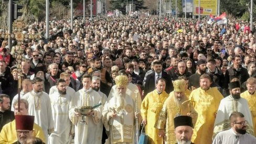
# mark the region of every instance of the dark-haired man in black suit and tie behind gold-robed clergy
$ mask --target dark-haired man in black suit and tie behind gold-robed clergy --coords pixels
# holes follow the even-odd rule
[[[150,75],[147,75],[147,77],[146,77],[144,95],[147,95],[147,93],[156,89],[156,80],[158,78],[164,78],[165,81],[166,81],[165,91],[167,93],[172,92],[173,91],[172,78],[165,71],[163,71],[162,62],[161,61],[155,61],[153,63],[153,69],[154,69],[153,73],[150,74]]]

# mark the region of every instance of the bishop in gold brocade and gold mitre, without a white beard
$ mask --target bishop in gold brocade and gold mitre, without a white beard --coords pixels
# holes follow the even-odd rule
[[[180,115],[190,116],[195,124],[197,112],[193,107],[193,102],[189,101],[185,95],[185,81],[175,80],[173,95],[169,95],[163,105],[159,115],[156,128],[159,129],[159,137],[163,138],[165,143],[176,143],[174,118]]]

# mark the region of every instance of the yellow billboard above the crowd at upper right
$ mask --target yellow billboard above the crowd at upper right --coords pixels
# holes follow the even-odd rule
[[[199,0],[193,2],[193,15],[198,16],[198,11],[200,16],[217,15],[218,0],[200,0],[200,8],[198,2]]]

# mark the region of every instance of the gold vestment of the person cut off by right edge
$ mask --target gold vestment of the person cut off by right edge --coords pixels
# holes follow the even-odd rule
[[[241,93],[241,97],[248,101],[249,109],[252,115],[254,136],[256,136],[256,92],[250,94],[247,90]]]

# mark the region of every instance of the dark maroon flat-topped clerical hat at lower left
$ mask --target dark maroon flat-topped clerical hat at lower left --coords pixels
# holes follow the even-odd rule
[[[33,130],[35,116],[32,115],[15,115],[17,130]]]

